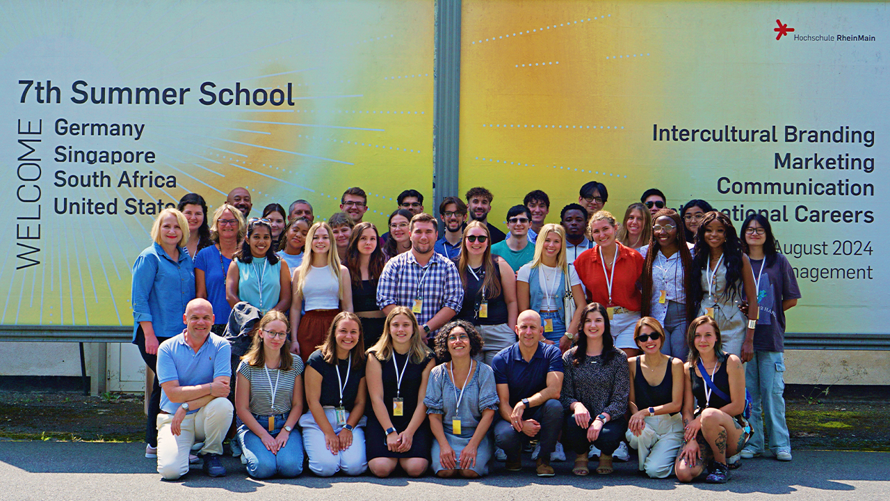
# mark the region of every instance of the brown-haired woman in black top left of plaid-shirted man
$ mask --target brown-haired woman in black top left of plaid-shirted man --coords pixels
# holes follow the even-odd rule
[[[384,333],[386,314],[377,307],[377,280],[383,273],[386,258],[373,223],[363,221],[352,228],[343,264],[349,270],[352,310],[361,320],[365,346],[374,346]]]

